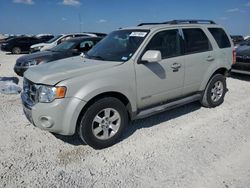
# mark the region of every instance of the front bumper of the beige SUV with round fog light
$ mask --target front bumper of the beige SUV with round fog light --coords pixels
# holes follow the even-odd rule
[[[86,102],[78,98],[56,99],[51,103],[32,104],[21,94],[26,118],[36,127],[61,135],[75,133],[78,117]]]

